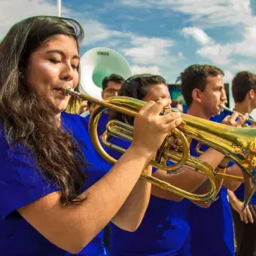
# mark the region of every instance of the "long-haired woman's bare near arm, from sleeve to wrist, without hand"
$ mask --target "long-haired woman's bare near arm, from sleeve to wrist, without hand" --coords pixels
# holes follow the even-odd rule
[[[111,171],[80,195],[87,200],[79,205],[62,206],[59,193],[54,192],[18,212],[50,242],[78,253],[114,218],[148,157],[139,149],[129,148]]]

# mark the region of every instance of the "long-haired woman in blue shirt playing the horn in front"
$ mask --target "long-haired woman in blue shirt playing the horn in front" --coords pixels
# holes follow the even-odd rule
[[[169,99],[149,102],[108,172],[84,118],[63,112],[70,96],[62,90],[78,85],[82,38],[75,20],[41,16],[12,26],[0,44],[2,255],[107,254],[102,228],[113,221],[136,230],[151,190],[136,183],[142,170],[151,175],[148,160],[181,123],[179,113],[160,116]]]

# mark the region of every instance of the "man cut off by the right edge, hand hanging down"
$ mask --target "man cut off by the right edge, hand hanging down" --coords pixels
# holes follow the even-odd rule
[[[239,72],[232,81],[232,94],[235,101],[234,111],[241,114],[251,113],[256,108],[256,76],[251,72]],[[252,117],[250,117],[252,118]],[[252,125],[250,121],[246,122]],[[228,190],[236,237],[236,255],[256,255],[256,192],[245,211],[242,211],[244,185],[235,192]]]

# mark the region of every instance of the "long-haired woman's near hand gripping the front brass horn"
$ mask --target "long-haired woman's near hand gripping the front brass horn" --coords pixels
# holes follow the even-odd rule
[[[144,154],[154,154],[166,136],[181,124],[181,113],[170,112],[160,115],[163,108],[171,103],[170,99],[148,102],[136,115],[132,146]]]

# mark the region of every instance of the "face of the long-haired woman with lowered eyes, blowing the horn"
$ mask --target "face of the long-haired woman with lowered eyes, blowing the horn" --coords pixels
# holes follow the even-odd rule
[[[61,89],[78,85],[78,46],[75,38],[56,35],[29,58],[24,71],[26,84],[42,97],[52,102],[57,112],[64,111],[70,96]]]

